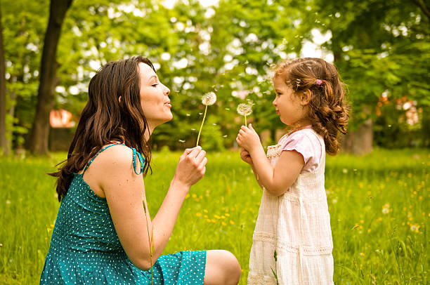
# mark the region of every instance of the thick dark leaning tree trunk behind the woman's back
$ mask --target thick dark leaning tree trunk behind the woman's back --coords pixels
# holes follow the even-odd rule
[[[56,69],[56,53],[60,39],[61,26],[65,13],[73,0],[51,0],[48,27],[44,39],[44,50],[41,57],[40,84],[37,94],[37,107],[34,116],[32,131],[28,141],[28,148],[33,154],[48,153],[49,112],[55,102],[54,91],[58,79]]]

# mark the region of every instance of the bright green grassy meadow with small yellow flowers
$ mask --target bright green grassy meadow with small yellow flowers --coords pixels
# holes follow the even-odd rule
[[[152,216],[179,153],[153,156],[145,178]],[[59,203],[45,173],[65,157],[0,157],[0,284],[38,284]],[[207,174],[185,199],[164,253],[227,249],[246,284],[261,190],[236,152],[208,154]],[[429,150],[327,157],[335,284],[429,284]]]

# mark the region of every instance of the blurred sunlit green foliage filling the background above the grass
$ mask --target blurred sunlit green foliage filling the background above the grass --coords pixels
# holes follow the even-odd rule
[[[13,131],[32,125],[48,8],[47,0],[2,1],[8,108],[15,110],[8,128]],[[56,108],[79,119],[98,67],[142,54],[155,62],[171,89],[174,120],[157,128],[155,149],[193,145],[200,98],[209,91],[218,96],[211,114],[223,147],[234,146],[242,119],[235,109],[244,95],[254,102],[250,122],[271,131],[275,140],[275,130],[284,126],[271,106],[271,65],[297,57],[304,40],[313,39],[311,30],[319,29],[332,34],[323,48],[333,53],[348,84],[353,130],[377,119],[375,106],[383,92],[390,100],[408,96],[417,107],[430,105],[426,20],[414,1],[400,0],[221,0],[213,7],[191,0],[176,1],[174,8],[151,0],[74,0],[58,46]]]

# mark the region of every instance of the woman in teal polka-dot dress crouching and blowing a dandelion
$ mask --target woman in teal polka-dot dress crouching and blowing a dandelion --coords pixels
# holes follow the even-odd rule
[[[151,220],[143,176],[152,131],[173,117],[169,93],[141,56],[109,62],[91,79],[67,161],[52,173],[61,205],[41,284],[237,284],[228,251],[162,256],[207,163],[201,147],[183,152]]]

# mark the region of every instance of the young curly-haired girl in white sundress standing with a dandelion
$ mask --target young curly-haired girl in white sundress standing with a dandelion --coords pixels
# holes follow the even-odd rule
[[[320,58],[282,62],[273,86],[276,114],[291,131],[267,155],[251,124],[236,138],[263,188],[248,284],[333,284],[324,168],[346,133],[345,93],[337,69]]]

